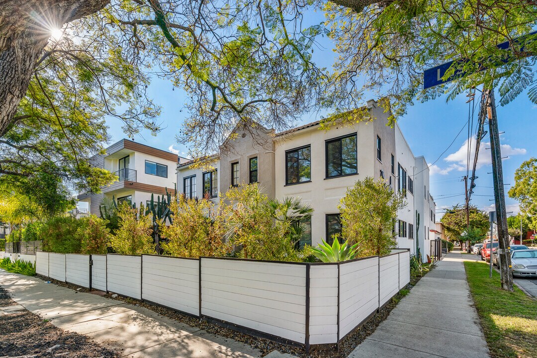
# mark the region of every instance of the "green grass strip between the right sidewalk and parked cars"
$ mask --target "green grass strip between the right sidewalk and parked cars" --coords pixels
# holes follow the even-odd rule
[[[500,288],[500,276],[484,262],[465,262],[470,292],[493,358],[537,358],[537,300],[515,287]]]

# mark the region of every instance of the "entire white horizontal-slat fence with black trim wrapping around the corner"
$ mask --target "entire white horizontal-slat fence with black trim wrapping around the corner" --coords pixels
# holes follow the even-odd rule
[[[408,250],[332,264],[47,252],[36,259],[37,273],[59,281],[306,347],[339,342],[410,282]]]

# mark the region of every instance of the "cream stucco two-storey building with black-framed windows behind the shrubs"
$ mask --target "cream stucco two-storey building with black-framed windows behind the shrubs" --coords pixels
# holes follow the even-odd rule
[[[195,161],[178,164],[177,189],[189,197],[207,195],[216,201],[230,186],[259,182],[270,198],[297,196],[314,208],[304,243],[316,245],[340,231],[338,204],[357,180],[384,178],[406,192],[407,206],[398,213],[398,247],[429,254],[434,230],[434,201],[429,194],[429,169],[415,157],[401,129],[387,126],[388,114],[368,101],[371,121],[320,130],[320,122],[274,133],[263,127],[236,128],[220,152],[209,157],[212,167]],[[431,211],[432,210],[432,211]],[[416,213],[420,223],[416,240]],[[432,213],[432,214],[431,214]]]

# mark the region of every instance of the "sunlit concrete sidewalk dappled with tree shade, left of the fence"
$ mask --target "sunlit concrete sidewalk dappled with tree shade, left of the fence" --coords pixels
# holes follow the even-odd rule
[[[47,284],[0,269],[0,285],[28,311],[63,330],[85,334],[124,357],[252,358],[249,345],[209,334],[114,299]],[[275,352],[276,355],[278,354]]]

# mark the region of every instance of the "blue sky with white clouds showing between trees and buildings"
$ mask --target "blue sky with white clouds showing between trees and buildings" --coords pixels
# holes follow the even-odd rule
[[[310,20],[311,23],[314,23],[322,21],[322,19],[322,14],[317,12]],[[330,66],[334,56],[330,47],[331,43],[328,42],[328,39],[321,39],[321,42],[318,43],[314,58],[318,65]],[[188,148],[177,144],[176,135],[187,116],[184,108],[184,103],[187,101],[186,93],[180,88],[173,90],[170,81],[157,77],[153,78],[148,91],[155,103],[162,107],[159,122],[163,130],[156,137],[151,136],[148,131],[143,131],[135,137],[135,141],[175,151],[177,154],[185,156]],[[461,95],[449,103],[446,103],[446,97],[440,97],[426,103],[416,103],[409,108],[407,115],[398,119],[398,125],[407,138],[413,154],[425,156],[429,164],[438,159],[431,166],[432,175],[430,178],[431,194],[437,203],[437,220],[444,213],[446,207],[464,202],[464,183],[461,180],[466,175],[468,128],[465,127],[456,139],[455,137],[468,122],[468,104],[465,103],[467,99],[465,95]],[[496,92],[497,103],[499,103],[499,99],[499,94]],[[477,96],[476,101],[478,101]],[[533,147],[534,137],[537,134],[537,105],[531,103],[527,94],[523,93],[505,107],[498,105],[497,112],[500,132],[505,132],[500,136],[502,156],[508,157],[503,160],[504,182],[509,184],[505,185],[507,211],[513,211],[514,214],[517,214],[518,203],[507,196],[507,191],[514,184],[514,171],[524,160],[537,156],[537,149]],[[320,115],[306,114],[296,125],[320,119]],[[474,124],[476,121],[477,111]],[[110,127],[109,133],[112,136],[112,142],[125,137],[121,130],[122,123],[119,120],[108,119],[107,125]],[[485,129],[488,130],[488,126]],[[447,149],[452,142],[451,147]],[[488,135],[483,142],[476,171],[477,186],[474,189],[471,203],[482,210],[490,211],[494,210],[494,201],[491,201],[494,198],[492,196],[494,192],[492,176],[488,174],[491,172],[490,150],[485,149],[490,147]],[[446,151],[445,154],[440,156],[444,151]],[[473,160],[473,154],[471,159]]]

